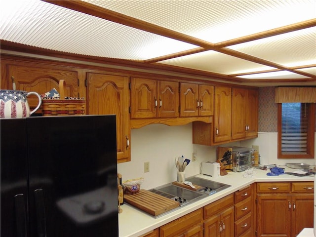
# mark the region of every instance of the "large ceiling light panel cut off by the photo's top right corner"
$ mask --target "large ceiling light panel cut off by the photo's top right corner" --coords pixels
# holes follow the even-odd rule
[[[315,0],[84,0],[209,42],[315,18]]]

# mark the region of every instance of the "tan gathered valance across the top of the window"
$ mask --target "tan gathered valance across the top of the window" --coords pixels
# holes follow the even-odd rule
[[[316,87],[276,87],[275,103],[316,103]]]

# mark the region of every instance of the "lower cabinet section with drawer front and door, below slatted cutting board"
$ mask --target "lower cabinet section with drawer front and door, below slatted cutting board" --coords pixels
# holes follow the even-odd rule
[[[203,208],[159,228],[160,237],[203,237]]]

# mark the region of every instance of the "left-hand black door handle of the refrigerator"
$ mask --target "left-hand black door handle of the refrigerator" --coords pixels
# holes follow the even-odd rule
[[[15,221],[16,221],[16,236],[26,237],[26,210],[24,194],[14,196]]]

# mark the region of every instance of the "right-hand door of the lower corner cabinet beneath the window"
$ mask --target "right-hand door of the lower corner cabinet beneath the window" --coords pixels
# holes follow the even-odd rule
[[[304,228],[314,228],[314,195],[292,194],[292,237]]]

